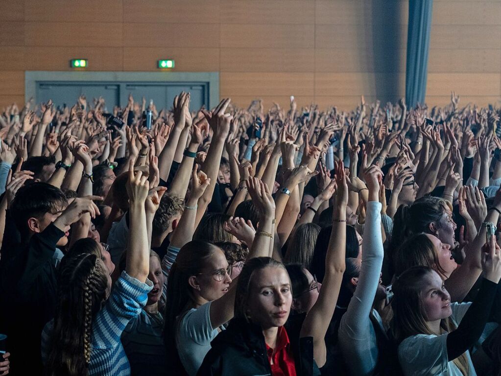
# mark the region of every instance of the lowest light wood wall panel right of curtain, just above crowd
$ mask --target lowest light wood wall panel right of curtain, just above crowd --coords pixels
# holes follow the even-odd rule
[[[495,96],[501,92],[501,73],[429,73],[426,94]]]

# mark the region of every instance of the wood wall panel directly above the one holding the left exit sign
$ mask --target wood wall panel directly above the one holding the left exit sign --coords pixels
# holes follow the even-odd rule
[[[25,32],[27,46],[122,46],[122,23],[26,22]]]

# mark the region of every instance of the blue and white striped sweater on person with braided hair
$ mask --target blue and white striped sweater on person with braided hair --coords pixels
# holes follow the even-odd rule
[[[130,319],[141,312],[153,288],[151,281],[142,283],[125,271],[115,283],[110,297],[92,322],[92,352],[89,375],[126,376],[130,365],[120,335]],[[42,332],[42,360],[47,362],[54,320]]]

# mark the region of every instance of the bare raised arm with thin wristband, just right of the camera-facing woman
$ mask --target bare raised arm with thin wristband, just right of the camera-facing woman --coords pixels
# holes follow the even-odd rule
[[[343,161],[336,164],[338,186],[336,205],[332,215],[332,232],[325,258],[325,276],[317,301],[306,315],[301,337],[313,337],[313,355],[319,367],[325,364],[327,350],[325,334],[331,322],[346,268],[346,205],[348,185]]]

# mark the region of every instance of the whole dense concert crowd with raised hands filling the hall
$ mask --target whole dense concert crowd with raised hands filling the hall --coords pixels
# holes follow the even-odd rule
[[[501,375],[500,114],[8,106],[0,374]]]

